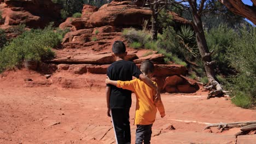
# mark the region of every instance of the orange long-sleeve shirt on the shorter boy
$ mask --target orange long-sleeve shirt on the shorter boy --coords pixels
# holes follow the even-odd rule
[[[156,82],[153,81],[153,83],[156,85]],[[136,94],[135,124],[153,124],[156,117],[156,108],[161,116],[165,116],[165,109],[162,101],[159,100],[156,104],[154,103],[154,90],[142,80],[134,79],[131,81],[118,81],[117,87],[129,89]]]

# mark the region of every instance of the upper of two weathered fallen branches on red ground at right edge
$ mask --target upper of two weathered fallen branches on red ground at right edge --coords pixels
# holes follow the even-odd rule
[[[246,125],[256,124],[256,121],[246,121],[246,122],[234,122],[234,123],[213,123],[208,124],[205,129],[209,129],[211,127],[218,127],[218,129],[230,129],[230,128],[240,128],[245,127]],[[205,130],[204,129],[204,130]]]

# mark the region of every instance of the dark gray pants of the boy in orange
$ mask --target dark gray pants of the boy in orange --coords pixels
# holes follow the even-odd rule
[[[138,125],[136,129],[136,144],[142,144],[144,141],[144,144],[149,144],[151,140],[151,134],[152,134],[152,125]]]

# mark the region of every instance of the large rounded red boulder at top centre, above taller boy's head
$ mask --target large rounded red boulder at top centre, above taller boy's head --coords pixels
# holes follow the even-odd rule
[[[103,5],[90,16],[90,22],[95,27],[141,27],[143,19],[151,18],[149,9],[141,9],[137,6],[127,5],[129,1],[110,3]],[[143,17],[143,19],[142,19]]]

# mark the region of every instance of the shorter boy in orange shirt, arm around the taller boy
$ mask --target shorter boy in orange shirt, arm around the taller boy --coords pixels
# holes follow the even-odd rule
[[[152,77],[154,64],[150,61],[143,62],[141,64],[141,71],[149,78]],[[136,144],[140,144],[143,141],[145,144],[150,143],[152,125],[156,117],[156,108],[159,110],[161,117],[165,116],[165,109],[161,99],[154,103],[154,95],[156,93],[154,89],[150,88],[140,79],[113,81],[107,77],[106,83],[135,92],[137,100],[135,113],[135,124],[137,125]],[[156,82],[153,81],[153,83],[157,86]]]

